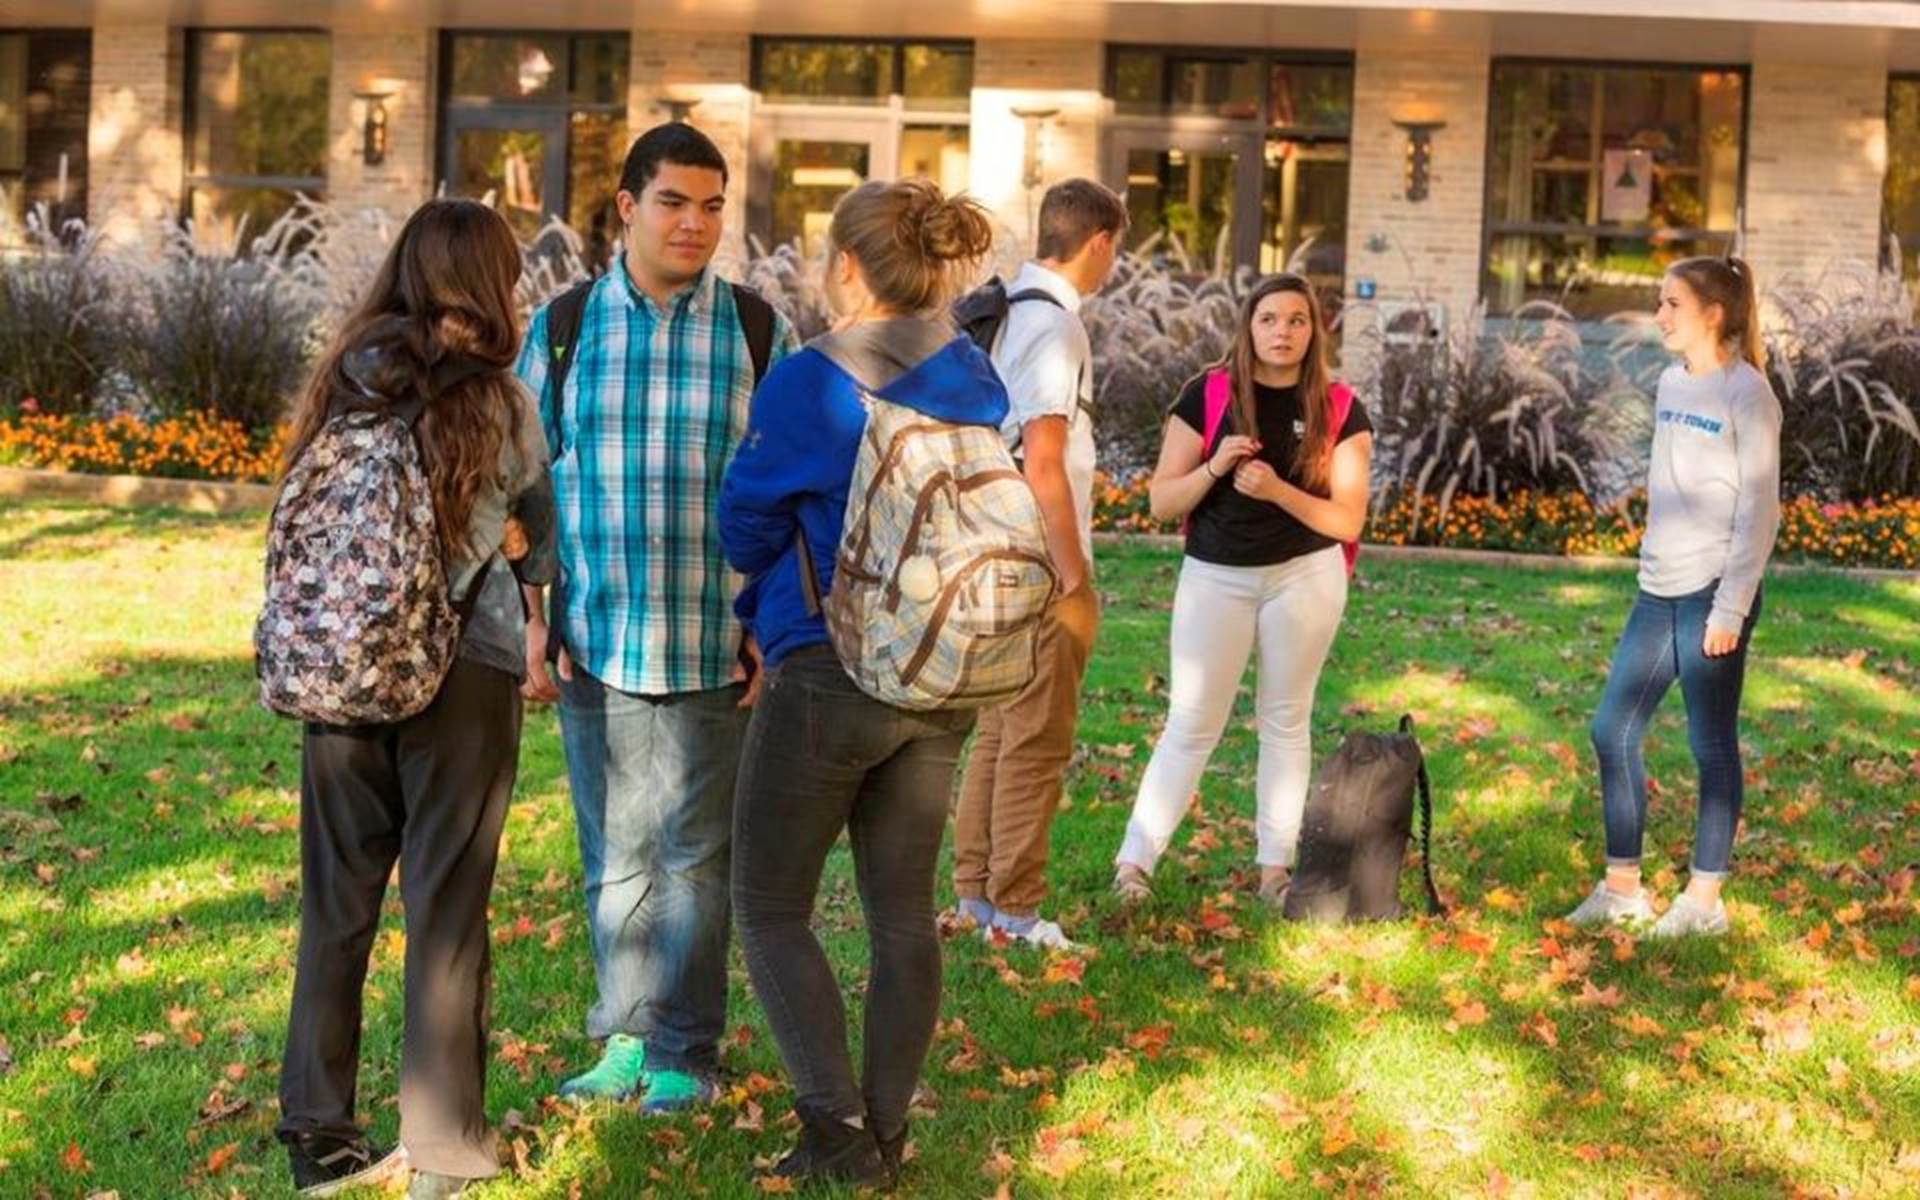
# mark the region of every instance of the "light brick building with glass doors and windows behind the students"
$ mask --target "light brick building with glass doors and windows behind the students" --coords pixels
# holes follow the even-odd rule
[[[904,173],[1016,232],[1094,175],[1198,265],[1496,315],[1644,307],[1665,261],[1734,238],[1763,278],[1920,246],[1916,4],[781,10],[0,0],[0,242],[42,202],[140,238],[438,188],[605,238],[628,138],[684,117],[735,165],[735,248],[814,244],[845,188]]]

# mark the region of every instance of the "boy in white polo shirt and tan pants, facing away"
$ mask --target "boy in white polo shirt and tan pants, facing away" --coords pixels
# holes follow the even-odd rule
[[[1012,303],[993,365],[1012,411],[1006,442],[1046,520],[1060,595],[1041,634],[1039,670],[1018,697],[981,712],[954,816],[960,912],[1043,947],[1066,947],[1041,918],[1046,843],[1073,756],[1079,687],[1092,655],[1100,601],[1092,591],[1092,348],[1081,300],[1114,269],[1127,205],[1091,179],[1054,184],[1041,200],[1035,257],[1006,288]]]

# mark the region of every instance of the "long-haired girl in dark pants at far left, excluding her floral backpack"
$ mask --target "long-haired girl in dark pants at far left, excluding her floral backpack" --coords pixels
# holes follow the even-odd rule
[[[294,1185],[326,1196],[411,1162],[409,1196],[499,1171],[486,1121],[488,895],[518,766],[520,586],[553,574],[553,497],[532,397],[513,376],[520,248],[470,200],[434,200],[396,238],[301,394],[286,465],[328,420],[413,417],[449,599],[463,614],[440,691],[390,724],[307,724],[300,776],[300,956],[278,1135]],[[501,553],[518,526],[515,561]],[[407,912],[399,1150],[353,1123],[361,987],[386,881]]]

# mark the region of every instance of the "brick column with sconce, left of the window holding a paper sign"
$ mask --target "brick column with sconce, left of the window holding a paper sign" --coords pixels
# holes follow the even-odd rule
[[[1457,50],[1369,50],[1354,63],[1354,167],[1346,284],[1371,278],[1379,301],[1434,300],[1457,321],[1480,294],[1488,60]],[[1446,121],[1432,134],[1427,200],[1407,200],[1409,111]]]

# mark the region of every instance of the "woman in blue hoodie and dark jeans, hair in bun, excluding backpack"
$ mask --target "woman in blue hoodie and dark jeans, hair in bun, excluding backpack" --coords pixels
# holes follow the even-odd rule
[[[720,490],[720,540],[747,576],[735,612],[764,655],[733,801],[733,916],[801,1117],[799,1146],[774,1173],[885,1187],[939,1014],[933,874],[973,714],[910,712],[862,693],[806,603],[799,540],[824,595],[866,394],[989,428],[1008,397],[987,355],[947,321],[947,301],[993,248],[979,204],[927,180],[876,180],[839,202],[829,240],[837,323],[768,372]],[[872,939],[858,1073],[839,985],[808,925],[841,829]]]

